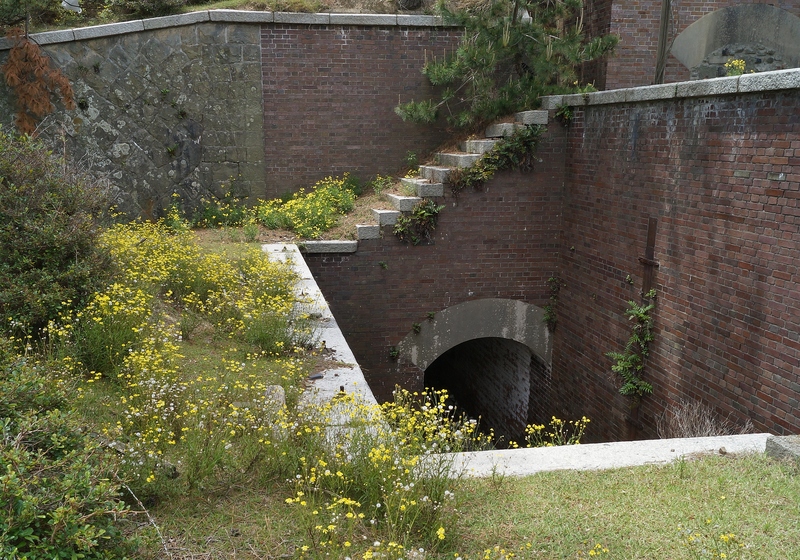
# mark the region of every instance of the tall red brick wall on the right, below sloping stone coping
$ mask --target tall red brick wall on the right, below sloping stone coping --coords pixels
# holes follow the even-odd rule
[[[654,436],[665,405],[681,399],[759,430],[800,429],[798,114],[797,93],[576,110],[553,387],[572,403],[565,413],[592,419],[593,437]],[[650,216],[655,393],[633,433],[605,353],[630,333],[623,313],[640,301]]]

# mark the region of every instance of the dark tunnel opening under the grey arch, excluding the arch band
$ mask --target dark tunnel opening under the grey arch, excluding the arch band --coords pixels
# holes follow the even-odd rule
[[[521,442],[526,424],[549,418],[550,368],[515,340],[462,342],[428,366],[425,387],[446,389],[459,408],[502,437],[500,443]]]

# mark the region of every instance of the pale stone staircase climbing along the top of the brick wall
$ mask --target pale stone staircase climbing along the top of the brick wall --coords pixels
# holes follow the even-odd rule
[[[305,250],[314,253],[355,252],[359,240],[380,238],[384,226],[393,226],[401,214],[410,213],[423,199],[443,197],[445,185],[448,184],[453,169],[470,167],[491,150],[499,139],[511,136],[517,129],[529,124],[546,125],[547,121],[546,110],[517,113],[514,115],[514,122],[487,127],[484,131],[485,138],[461,142],[460,151],[436,154],[436,165],[421,165],[419,177],[400,179],[403,190],[413,193],[412,195],[383,195],[389,208],[373,209],[374,223],[356,225],[356,241],[306,241],[303,244]]]

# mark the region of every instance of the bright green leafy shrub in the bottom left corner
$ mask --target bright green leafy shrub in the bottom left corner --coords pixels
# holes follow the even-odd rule
[[[63,382],[10,347],[0,339],[0,557],[124,557],[116,458],[64,411]]]

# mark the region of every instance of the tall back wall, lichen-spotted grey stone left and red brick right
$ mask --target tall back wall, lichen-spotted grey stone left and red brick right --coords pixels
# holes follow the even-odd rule
[[[427,16],[336,18],[215,10],[35,35],[78,104],[47,117],[41,135],[146,218],[173,193],[191,208],[395,172],[408,151],[444,139],[443,127],[407,125],[393,108],[432,93],[425,56],[460,35]],[[0,63],[8,46],[0,40]],[[3,84],[0,124],[13,120]]]

